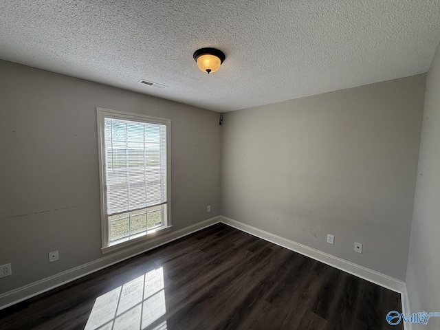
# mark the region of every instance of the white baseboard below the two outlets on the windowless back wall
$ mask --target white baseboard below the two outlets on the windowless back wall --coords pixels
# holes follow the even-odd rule
[[[332,267],[338,268],[338,270],[343,270],[344,272],[347,272],[349,274],[364,278],[364,280],[366,281],[375,283],[382,287],[386,287],[387,289],[391,289],[394,292],[398,292],[401,294],[404,290],[405,283],[397,280],[397,278],[393,278],[380,272],[375,272],[374,270],[369,270],[366,267],[356,265],[355,263],[340,259],[336,256],[332,256],[331,254],[309,248],[306,245],[296,243],[281,236],[266,232],[265,230],[252,227],[252,225],[246,225],[245,223],[241,223],[228,217],[221,216],[220,218],[221,222],[230,225],[236,229],[242,230],[243,232],[248,232],[249,234],[264,239],[265,241],[270,241],[271,243],[280,245],[283,248],[287,248],[305,256],[309,256],[311,259],[315,259]]]

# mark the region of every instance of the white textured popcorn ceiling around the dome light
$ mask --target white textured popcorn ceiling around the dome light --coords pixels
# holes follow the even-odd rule
[[[0,0],[0,58],[225,112],[427,72],[439,2]]]

